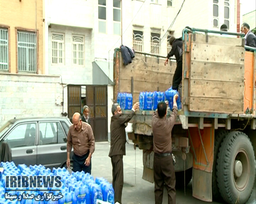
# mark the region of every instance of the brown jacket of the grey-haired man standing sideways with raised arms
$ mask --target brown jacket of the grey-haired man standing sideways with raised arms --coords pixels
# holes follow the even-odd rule
[[[114,155],[126,155],[125,123],[128,123],[134,114],[135,112],[131,111],[128,115],[116,114],[111,117],[109,157]]]

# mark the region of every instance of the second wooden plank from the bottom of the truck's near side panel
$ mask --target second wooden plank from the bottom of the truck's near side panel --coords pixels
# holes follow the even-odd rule
[[[244,82],[191,80],[190,96],[243,100]]]

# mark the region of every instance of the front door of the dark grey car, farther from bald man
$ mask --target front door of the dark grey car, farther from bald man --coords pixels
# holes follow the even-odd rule
[[[19,123],[5,136],[4,140],[10,144],[12,161],[18,164],[37,164],[36,122]]]

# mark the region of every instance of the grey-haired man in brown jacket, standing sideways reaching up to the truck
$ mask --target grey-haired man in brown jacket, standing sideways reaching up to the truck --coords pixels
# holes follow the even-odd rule
[[[112,163],[114,202],[122,203],[123,191],[123,155],[126,155],[126,125],[132,119],[135,111],[139,108],[139,103],[135,103],[132,111],[128,115],[122,115],[121,107],[118,103],[112,105],[110,123],[110,153]]]

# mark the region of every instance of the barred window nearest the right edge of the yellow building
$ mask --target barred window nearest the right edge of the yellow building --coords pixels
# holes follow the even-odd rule
[[[37,38],[35,32],[17,31],[18,71],[34,72],[37,68]]]

